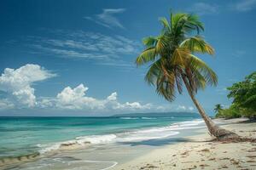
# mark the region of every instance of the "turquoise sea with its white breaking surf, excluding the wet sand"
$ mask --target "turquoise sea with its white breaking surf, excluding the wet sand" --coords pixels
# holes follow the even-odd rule
[[[44,154],[61,144],[160,139],[196,127],[198,117],[0,117],[0,158]]]

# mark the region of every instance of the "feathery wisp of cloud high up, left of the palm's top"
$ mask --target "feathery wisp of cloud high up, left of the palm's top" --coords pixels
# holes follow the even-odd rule
[[[103,8],[102,14],[96,14],[95,16],[86,16],[84,19],[96,22],[96,24],[105,26],[108,28],[119,27],[124,28],[120,23],[116,14],[121,14],[125,12],[125,8]]]

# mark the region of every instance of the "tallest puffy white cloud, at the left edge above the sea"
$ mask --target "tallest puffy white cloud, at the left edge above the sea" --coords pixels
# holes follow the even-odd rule
[[[32,83],[54,76],[55,74],[50,73],[40,65],[27,64],[16,70],[6,68],[0,77],[0,90],[8,93],[17,104],[33,107],[36,105],[36,96]]]

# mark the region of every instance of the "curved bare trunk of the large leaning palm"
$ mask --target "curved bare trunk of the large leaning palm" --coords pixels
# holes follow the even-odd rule
[[[192,99],[193,103],[195,104],[197,110],[201,114],[201,117],[207,124],[207,128],[211,135],[216,137],[217,139],[238,139],[239,136],[236,133],[230,132],[224,128],[218,127],[214,122],[212,122],[212,119],[207,116],[204,109],[201,107],[200,103],[195,99],[195,95],[193,94],[191,88],[189,87],[189,83],[187,82],[186,78],[183,76],[183,82],[185,83],[185,86],[189,92],[189,96]]]

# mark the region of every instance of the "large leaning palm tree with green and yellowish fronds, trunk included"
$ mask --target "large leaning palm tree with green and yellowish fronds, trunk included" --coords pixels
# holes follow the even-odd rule
[[[145,81],[156,87],[168,101],[175,99],[176,91],[183,93],[183,84],[196,108],[207,124],[211,135],[218,139],[236,138],[238,135],[218,127],[195,99],[199,89],[206,85],[216,86],[218,77],[214,71],[195,54],[214,54],[200,32],[204,26],[195,14],[172,14],[170,20],[160,18],[163,28],[157,37],[143,39],[145,50],[137,57],[136,64],[151,63]]]

